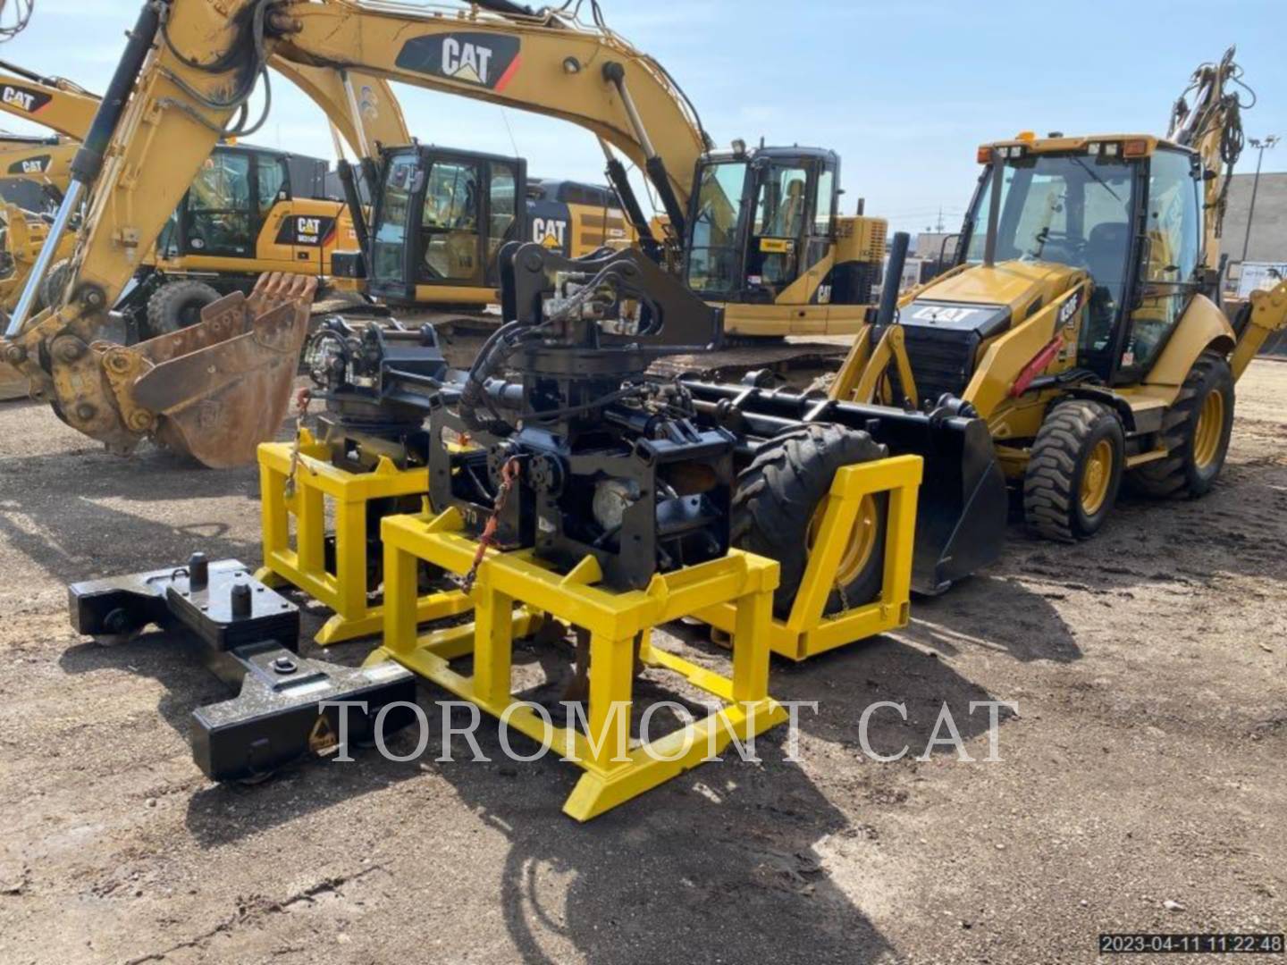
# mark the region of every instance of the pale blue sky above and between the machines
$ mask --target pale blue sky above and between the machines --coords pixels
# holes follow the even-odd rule
[[[588,5],[588,4],[587,4]],[[1259,103],[1250,138],[1287,136],[1282,0],[601,0],[610,27],[667,67],[717,144],[826,147],[843,210],[896,230],[960,225],[979,143],[1039,134],[1165,134],[1197,64],[1238,46]],[[36,0],[8,59],[102,91],[136,0]],[[537,176],[602,181],[595,139],[565,121],[399,86],[422,142],[528,158]],[[282,80],[254,143],[331,158],[320,112]],[[36,133],[18,118],[0,127]],[[1239,171],[1255,169],[1243,153]],[[1287,170],[1287,143],[1264,170]]]

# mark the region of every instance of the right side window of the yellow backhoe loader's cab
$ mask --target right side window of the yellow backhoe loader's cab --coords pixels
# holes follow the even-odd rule
[[[1189,154],[1160,149],[1149,160],[1142,290],[1131,313],[1124,368],[1147,372],[1188,306],[1201,259],[1199,188]]]

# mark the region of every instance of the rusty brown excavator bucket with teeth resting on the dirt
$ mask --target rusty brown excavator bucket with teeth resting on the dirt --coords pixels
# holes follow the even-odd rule
[[[135,405],[158,417],[156,437],[211,468],[255,461],[291,403],[317,279],[261,275],[201,322],[134,346],[152,368],[134,382]]]

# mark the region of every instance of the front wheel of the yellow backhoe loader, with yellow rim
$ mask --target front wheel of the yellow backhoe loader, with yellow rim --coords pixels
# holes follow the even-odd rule
[[[1036,535],[1073,543],[1103,529],[1117,502],[1126,434],[1107,405],[1058,403],[1046,414],[1023,476],[1023,516]]]

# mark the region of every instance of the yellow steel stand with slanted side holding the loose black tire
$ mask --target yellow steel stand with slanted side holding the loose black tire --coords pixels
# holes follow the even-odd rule
[[[924,461],[919,455],[846,466],[835,473],[822,507],[822,524],[786,620],[772,620],[775,654],[804,660],[866,637],[907,625],[911,598],[911,556],[916,533],[916,493]],[[824,616],[835,588],[835,570],[849,542],[862,498],[889,494],[885,517],[884,582],[871,603]],[[698,619],[732,633],[737,614],[728,603],[700,610]]]

